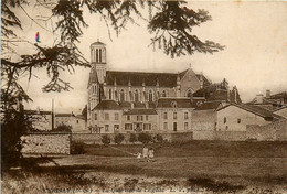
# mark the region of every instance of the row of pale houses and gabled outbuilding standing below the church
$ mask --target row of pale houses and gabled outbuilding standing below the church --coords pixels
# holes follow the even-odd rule
[[[114,100],[102,100],[93,109],[94,132],[246,131],[248,125],[265,126],[287,118],[258,106],[203,98],[167,97],[160,98],[155,108],[137,106],[131,109]]]

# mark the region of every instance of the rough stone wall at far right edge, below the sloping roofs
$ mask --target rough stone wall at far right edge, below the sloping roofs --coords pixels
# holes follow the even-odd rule
[[[257,141],[286,141],[287,120],[279,120],[266,126],[249,125],[246,127],[247,139]]]

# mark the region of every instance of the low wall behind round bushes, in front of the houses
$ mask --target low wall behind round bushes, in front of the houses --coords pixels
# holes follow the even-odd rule
[[[121,133],[125,137],[125,140],[123,143],[129,144],[129,138],[130,138],[130,133]],[[158,133],[150,133],[151,137],[156,137]],[[169,141],[169,142],[176,142],[176,141],[190,141],[192,140],[192,132],[174,132],[174,133],[159,133],[162,139],[164,141]],[[72,141],[75,142],[84,142],[87,144],[103,144],[102,143],[102,137],[104,134],[99,134],[99,133],[73,133],[72,134]],[[110,138],[110,143],[115,143],[114,142],[114,138],[116,136],[116,133],[109,133],[107,134]],[[137,134],[138,136],[138,134]]]

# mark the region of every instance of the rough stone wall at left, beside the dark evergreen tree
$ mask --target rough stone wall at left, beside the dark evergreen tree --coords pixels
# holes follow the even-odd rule
[[[22,153],[70,154],[70,133],[30,133],[21,140]]]

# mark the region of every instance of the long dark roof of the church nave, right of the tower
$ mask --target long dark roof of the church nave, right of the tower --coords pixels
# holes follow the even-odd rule
[[[107,71],[106,72],[106,84],[114,85],[115,83],[119,86],[157,86],[159,87],[176,87],[177,77],[182,78],[188,72],[183,71],[180,74],[174,73],[147,73],[147,72],[116,72]],[[199,78],[201,75],[196,74]],[[203,85],[209,85],[210,82],[203,76]]]

